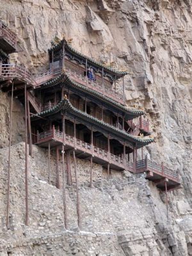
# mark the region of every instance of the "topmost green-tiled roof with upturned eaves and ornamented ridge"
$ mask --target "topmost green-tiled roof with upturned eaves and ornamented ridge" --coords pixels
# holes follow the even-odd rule
[[[79,65],[84,66],[84,68],[93,68],[95,73],[97,73],[96,76],[104,76],[111,81],[115,81],[116,79],[127,75],[127,72],[125,71],[118,71],[111,67],[106,67],[105,65],[102,65],[102,63],[81,54],[81,52],[72,48],[65,39],[61,40],[58,44],[53,45],[52,48],[49,49],[50,61],[56,65],[56,61],[58,61],[57,63],[61,62],[63,54],[65,54],[66,60],[72,60],[74,63],[76,62]],[[66,61],[65,67],[71,67],[68,61]]]

